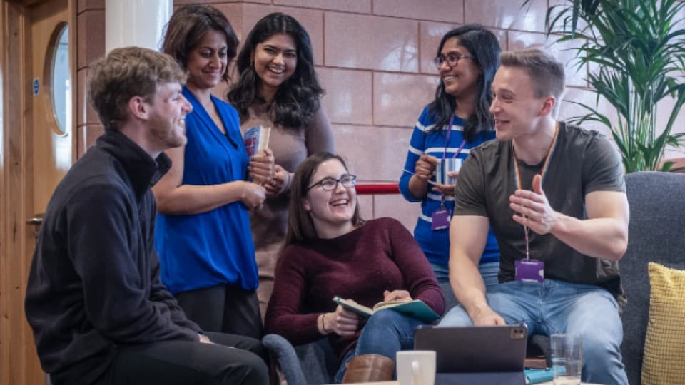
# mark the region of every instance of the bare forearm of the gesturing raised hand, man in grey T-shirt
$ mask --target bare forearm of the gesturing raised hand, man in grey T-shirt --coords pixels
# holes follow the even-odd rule
[[[628,228],[624,220],[595,218],[579,220],[557,213],[551,233],[578,252],[604,260],[620,260],[628,246]]]

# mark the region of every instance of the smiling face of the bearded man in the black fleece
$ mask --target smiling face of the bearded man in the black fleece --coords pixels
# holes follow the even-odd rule
[[[186,144],[186,115],[193,111],[191,103],[181,93],[181,84],[162,83],[149,103],[148,127],[150,143],[156,150],[166,150]]]

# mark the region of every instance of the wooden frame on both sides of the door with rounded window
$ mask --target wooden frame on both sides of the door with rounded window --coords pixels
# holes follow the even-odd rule
[[[33,140],[31,118],[30,6],[41,1],[0,0],[0,384],[43,384],[33,334],[24,316],[26,277],[34,231]],[[76,130],[76,0],[69,7],[69,66],[72,90],[71,140],[77,153]],[[31,250],[29,250],[31,249]],[[21,312],[16,314],[15,312]],[[16,338],[16,336],[23,337]]]

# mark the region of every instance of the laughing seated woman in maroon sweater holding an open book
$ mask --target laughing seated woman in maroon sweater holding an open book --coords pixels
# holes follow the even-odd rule
[[[315,153],[298,167],[265,319],[266,332],[293,344],[328,336],[340,358],[336,382],[370,358],[370,371],[392,367],[397,351],[413,349],[414,329],[422,322],[388,309],[364,319],[333,297],[367,307],[422,299],[437,314],[445,311],[440,287],[410,232],[391,218],[360,219],[356,181],[345,161],[331,153]]]

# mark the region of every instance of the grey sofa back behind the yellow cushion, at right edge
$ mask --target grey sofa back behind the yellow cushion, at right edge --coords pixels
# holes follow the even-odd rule
[[[685,174],[641,172],[626,176],[630,226],[628,251],[619,267],[628,304],[621,353],[630,385],[641,383],[649,317],[647,263],[685,269]]]

